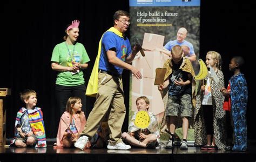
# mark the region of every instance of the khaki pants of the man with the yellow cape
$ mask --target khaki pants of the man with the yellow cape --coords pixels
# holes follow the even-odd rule
[[[109,124],[110,143],[116,145],[122,142],[120,138],[125,118],[123,82],[122,78],[99,73],[96,102],[80,135],[85,135],[91,139],[109,109],[110,114],[107,123]]]

